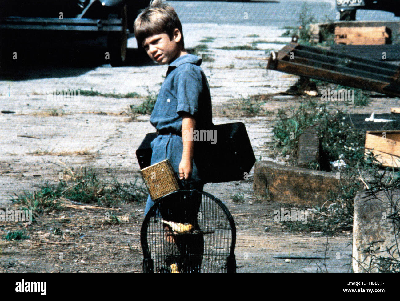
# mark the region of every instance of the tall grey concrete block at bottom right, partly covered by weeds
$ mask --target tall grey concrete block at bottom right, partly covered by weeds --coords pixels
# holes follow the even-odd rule
[[[391,199],[400,199],[400,191],[392,191]],[[354,273],[378,273],[373,258],[363,250],[371,244],[376,256],[390,257],[385,252],[387,247],[396,244],[394,231],[399,225],[394,225],[393,219],[388,218],[394,213],[394,206],[390,205],[388,196],[381,191],[376,197],[368,196],[366,193],[358,193],[354,198],[354,221],[353,221],[353,272]],[[397,211],[400,204],[397,205]],[[394,249],[392,249],[394,250]],[[398,251],[394,252],[394,258],[398,258]],[[372,261],[372,264],[371,264]]]

